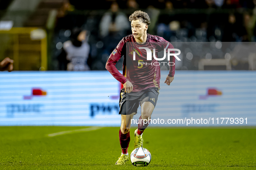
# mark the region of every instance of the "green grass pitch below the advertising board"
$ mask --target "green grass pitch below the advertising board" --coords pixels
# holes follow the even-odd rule
[[[121,154],[118,127],[0,127],[0,170],[228,170],[256,169],[256,129],[146,129],[148,167],[114,165]],[[131,129],[129,154],[135,129]],[[68,131],[49,137],[48,134]]]

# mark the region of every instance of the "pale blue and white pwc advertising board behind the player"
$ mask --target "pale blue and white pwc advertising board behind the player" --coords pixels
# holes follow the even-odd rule
[[[151,126],[256,126],[256,72],[176,71],[170,86],[166,75],[152,113],[165,122]],[[0,126],[120,126],[119,93],[107,71],[0,72]],[[188,124],[191,118],[208,121]]]

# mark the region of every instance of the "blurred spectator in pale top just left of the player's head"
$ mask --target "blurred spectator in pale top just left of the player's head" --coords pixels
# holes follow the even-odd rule
[[[118,4],[113,2],[110,6],[110,12],[105,13],[100,21],[101,37],[117,34],[123,37],[129,28],[130,24],[126,15],[120,12]]]

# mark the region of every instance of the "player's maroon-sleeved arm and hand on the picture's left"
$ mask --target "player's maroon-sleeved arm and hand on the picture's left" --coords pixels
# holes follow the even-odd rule
[[[117,45],[117,47],[113,50],[113,52],[110,54],[109,59],[107,60],[106,63],[106,69],[110,72],[110,74],[117,79],[117,81],[119,81],[120,83],[123,84],[124,87],[124,92],[128,92],[130,93],[131,91],[133,91],[133,85],[132,83],[127,80],[126,81],[126,77],[123,76],[117,69],[116,67],[116,63],[117,61],[120,60],[120,58],[123,56],[123,54],[125,54],[125,42],[124,39],[122,39],[119,44]],[[125,59],[124,59],[125,60]]]

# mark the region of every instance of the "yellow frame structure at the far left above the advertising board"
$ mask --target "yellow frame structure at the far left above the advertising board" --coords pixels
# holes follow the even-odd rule
[[[47,70],[47,35],[42,28],[0,30],[0,60],[10,57],[14,70]]]

